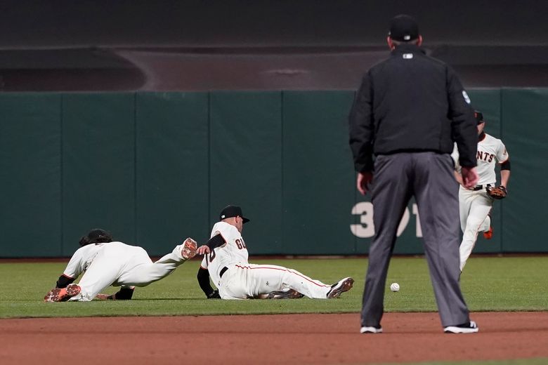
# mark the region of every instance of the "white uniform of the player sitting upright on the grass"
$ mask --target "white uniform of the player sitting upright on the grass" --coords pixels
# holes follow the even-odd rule
[[[327,299],[331,285],[287,267],[248,263],[247,246],[242,234],[233,225],[216,223],[211,230],[211,237],[216,234],[221,234],[226,243],[205,254],[201,265],[209,270],[209,276],[221,298],[259,298],[272,291],[292,288],[308,298]]]

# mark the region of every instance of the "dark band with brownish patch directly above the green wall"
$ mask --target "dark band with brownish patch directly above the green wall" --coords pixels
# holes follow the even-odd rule
[[[465,87],[546,87],[548,46],[429,46]],[[1,91],[353,90],[386,46],[0,51]]]

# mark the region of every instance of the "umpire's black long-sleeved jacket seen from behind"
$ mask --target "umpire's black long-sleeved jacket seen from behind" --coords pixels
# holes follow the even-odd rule
[[[373,170],[373,154],[433,151],[476,166],[474,110],[455,71],[415,44],[400,44],[363,77],[349,117],[358,172]]]

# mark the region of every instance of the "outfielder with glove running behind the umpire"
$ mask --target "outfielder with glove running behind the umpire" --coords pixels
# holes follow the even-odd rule
[[[478,123],[478,185],[471,189],[462,186],[459,173],[455,178],[461,184],[459,187],[460,226],[462,229],[462,242],[460,244],[460,271],[466,265],[467,260],[476,244],[478,233],[483,232],[483,237],[492,237],[490,211],[493,199],[503,199],[507,195],[506,187],[510,178],[510,161],[506,147],[502,140],[483,131],[485,119],[477,110],[474,112]],[[451,154],[455,160],[456,170],[460,170],[459,152],[455,147]],[[497,176],[495,163],[500,164],[500,186],[496,187]]]

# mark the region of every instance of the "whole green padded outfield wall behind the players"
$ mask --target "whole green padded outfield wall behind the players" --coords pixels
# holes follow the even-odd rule
[[[476,89],[511,157],[495,236],[474,252],[548,252],[548,89]],[[70,256],[94,227],[162,255],[209,238],[226,204],[252,255],[367,253],[372,205],[355,190],[353,91],[1,93],[0,257]],[[410,203],[396,253],[423,252]]]

